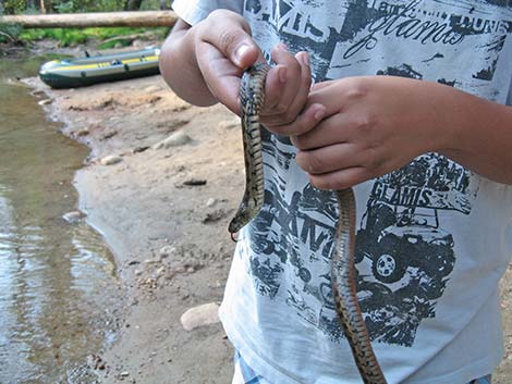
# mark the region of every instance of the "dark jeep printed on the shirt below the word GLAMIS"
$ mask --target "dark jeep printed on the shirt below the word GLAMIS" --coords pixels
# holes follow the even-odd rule
[[[356,237],[355,261],[364,257],[371,260],[374,276],[382,283],[400,281],[410,267],[442,278],[455,263],[453,237],[439,227],[437,209],[371,199]]]

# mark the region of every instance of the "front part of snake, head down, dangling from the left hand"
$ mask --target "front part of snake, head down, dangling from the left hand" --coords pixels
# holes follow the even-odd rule
[[[261,156],[261,127],[259,112],[265,102],[265,80],[268,66],[256,63],[242,76],[240,103],[245,160],[245,193],[228,231],[239,232],[260,211],[264,205],[264,160]]]

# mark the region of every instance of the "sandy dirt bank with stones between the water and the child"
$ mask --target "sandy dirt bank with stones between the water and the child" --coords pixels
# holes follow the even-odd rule
[[[31,83],[64,134],[92,149],[75,177],[80,210],[112,248],[124,288],[118,339],[90,357],[100,383],[230,383],[220,324],[185,331],[180,318],[222,298],[234,249],[227,225],[244,183],[237,120],[181,101],[159,76],[71,90]],[[186,136],[161,143],[176,132]],[[495,384],[512,383],[510,276]]]

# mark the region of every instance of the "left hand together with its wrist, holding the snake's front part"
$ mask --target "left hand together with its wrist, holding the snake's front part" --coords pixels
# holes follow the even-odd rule
[[[173,30],[163,48],[168,50],[167,58],[173,61],[169,65],[162,61],[164,78],[179,96],[192,103],[206,106],[220,101],[240,114],[242,74],[255,62],[265,61],[248,24],[237,13],[217,10],[193,27],[183,25],[186,24],[181,22],[181,28],[178,33]],[[270,131],[289,135],[294,133],[294,122],[309,94],[308,54],[293,55],[283,45],[278,45],[271,55],[276,65],[267,76],[261,123]],[[190,67],[191,64],[195,67]],[[186,74],[188,78],[185,78]],[[198,76],[202,79],[197,79]],[[205,96],[205,92],[210,95]],[[313,112],[306,115],[313,116]],[[310,124],[314,123],[312,117]],[[304,124],[304,117],[301,124]]]

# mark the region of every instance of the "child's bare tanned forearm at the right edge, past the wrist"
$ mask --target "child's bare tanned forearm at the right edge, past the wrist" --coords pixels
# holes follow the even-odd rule
[[[450,92],[444,96],[447,125],[440,129],[446,129],[446,141],[439,152],[481,176],[512,184],[512,107]]]

